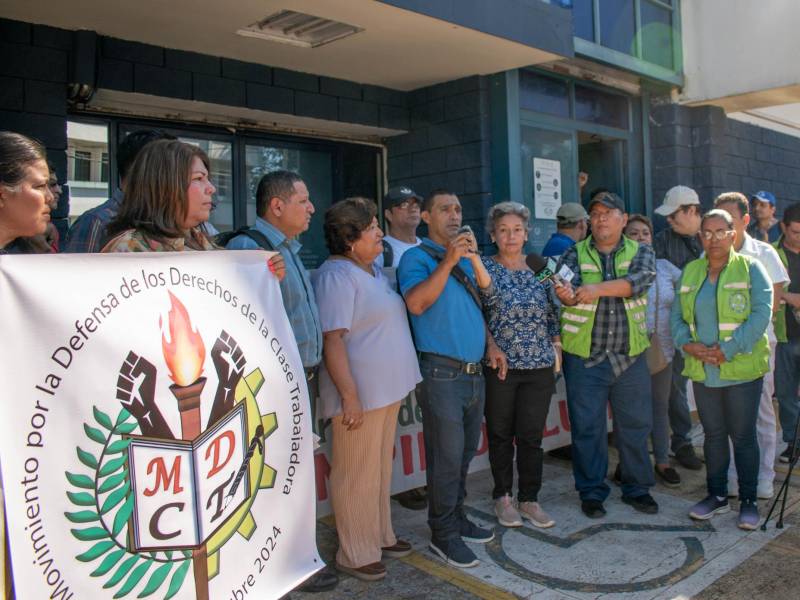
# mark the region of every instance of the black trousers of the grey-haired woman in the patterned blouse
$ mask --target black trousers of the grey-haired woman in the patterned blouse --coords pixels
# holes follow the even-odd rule
[[[514,495],[516,447],[517,499],[536,502],[542,488],[542,436],[555,389],[553,369],[509,369],[504,381],[497,377],[496,369],[486,368],[484,375],[492,498]]]

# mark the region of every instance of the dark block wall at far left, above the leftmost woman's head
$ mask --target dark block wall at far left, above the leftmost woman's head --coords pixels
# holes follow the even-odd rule
[[[67,179],[67,82],[72,32],[0,19],[0,129],[42,142],[58,179]],[[66,230],[68,194],[53,222]]]

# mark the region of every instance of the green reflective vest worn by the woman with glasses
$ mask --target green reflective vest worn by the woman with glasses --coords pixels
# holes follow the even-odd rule
[[[750,264],[754,259],[731,250],[728,264],[717,280],[717,321],[719,339],[725,341],[750,316]],[[681,315],[689,326],[692,340],[697,341],[694,303],[697,294],[708,276],[708,260],[705,257],[693,260],[683,269],[680,294]],[[703,362],[694,356],[685,355],[683,375],[692,381],[705,381]],[[749,353],[740,353],[719,367],[720,377],[732,381],[752,381],[769,371],[769,342],[765,331]]]

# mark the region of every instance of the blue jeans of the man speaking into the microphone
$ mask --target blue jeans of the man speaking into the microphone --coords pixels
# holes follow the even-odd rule
[[[435,358],[420,361],[425,439],[425,477],[428,483],[428,526],[433,538],[445,541],[460,535],[467,495],[467,469],[483,421],[483,375],[466,375]]]

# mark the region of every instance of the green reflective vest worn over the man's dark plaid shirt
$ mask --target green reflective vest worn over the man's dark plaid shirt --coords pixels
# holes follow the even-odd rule
[[[628,273],[631,261],[639,251],[638,242],[628,238],[623,239],[622,248],[614,256],[614,270],[617,277],[624,277]],[[600,254],[590,244],[590,240],[591,237],[588,237],[575,245],[578,252],[581,281],[583,283],[602,283],[603,266]],[[650,346],[646,323],[647,294],[623,298],[622,301],[625,304],[625,314],[628,318],[628,352],[631,356],[636,356]],[[592,349],[592,329],[598,304],[599,300],[595,300],[590,304],[562,307],[561,343],[564,345],[565,352],[589,358]]]

